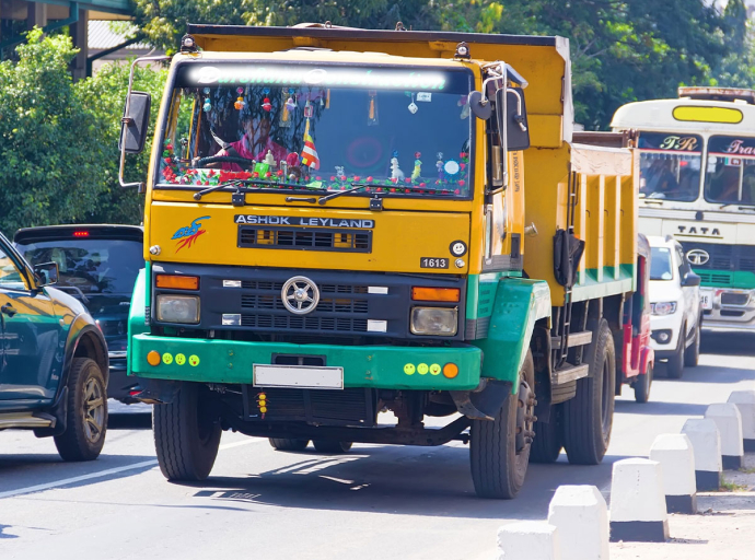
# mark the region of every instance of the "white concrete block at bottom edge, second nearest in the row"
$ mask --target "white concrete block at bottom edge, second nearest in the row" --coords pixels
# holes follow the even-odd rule
[[[608,560],[608,508],[594,486],[559,486],[548,506],[561,560]]]

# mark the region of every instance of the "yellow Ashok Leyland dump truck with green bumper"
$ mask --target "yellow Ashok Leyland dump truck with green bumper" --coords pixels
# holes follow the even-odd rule
[[[149,107],[129,89],[123,154]],[[190,25],[129,322],[165,477],[207,477],[223,430],[461,440],[492,498],[562,447],[601,462],[637,170],[620,136],[583,137],[560,37]]]

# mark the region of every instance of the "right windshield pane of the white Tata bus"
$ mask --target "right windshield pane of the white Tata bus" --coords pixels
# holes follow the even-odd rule
[[[708,140],[705,198],[724,205],[755,205],[755,138]]]

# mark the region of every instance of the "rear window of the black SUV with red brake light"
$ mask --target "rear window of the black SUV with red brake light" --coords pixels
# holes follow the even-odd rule
[[[144,267],[141,243],[123,240],[59,240],[16,244],[32,265],[58,264],[55,285],[84,294],[130,294]]]

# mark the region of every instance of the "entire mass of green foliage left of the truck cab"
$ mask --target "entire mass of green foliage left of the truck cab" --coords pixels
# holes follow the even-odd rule
[[[0,229],[56,223],[139,223],[142,197],[118,184],[118,137],[129,66],[73,83],[70,37],[30,32],[18,62],[0,63]],[[160,100],[166,72],[137,69],[135,86]],[[152,126],[156,117],[153,110]],[[144,180],[144,152],[127,180]]]

